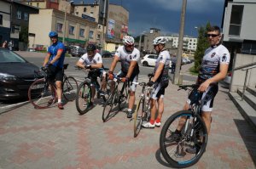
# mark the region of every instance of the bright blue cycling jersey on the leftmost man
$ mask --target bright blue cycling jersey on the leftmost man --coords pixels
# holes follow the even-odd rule
[[[60,50],[62,51],[61,57],[60,59],[56,60],[53,65],[55,65],[55,67],[58,67],[58,68],[63,68],[66,49],[62,42],[56,42],[49,46],[48,48],[48,54],[50,54],[49,62],[55,58],[58,51]]]

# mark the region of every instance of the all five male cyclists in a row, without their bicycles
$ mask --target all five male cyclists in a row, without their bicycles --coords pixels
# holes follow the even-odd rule
[[[58,34],[55,31],[49,32],[49,37],[52,41],[52,45],[48,49],[48,54],[44,59],[44,65],[48,66],[49,72],[52,75],[51,80],[55,80],[58,96],[58,108],[63,109],[61,103],[61,82],[62,82],[62,67],[65,59],[65,47],[58,41]],[[227,70],[230,63],[230,53],[227,48],[221,44],[221,31],[218,26],[212,26],[207,30],[207,38],[210,43],[210,47],[205,51],[205,55],[202,59],[201,70],[197,78],[197,84],[200,85],[198,91],[202,93],[202,118],[206,123],[207,132],[210,132],[211,127],[211,113],[213,100],[218,93],[218,82],[224,79],[227,74]],[[100,94],[104,94],[106,89],[106,83],[108,80],[113,80],[113,71],[118,62],[121,64],[121,70],[117,73],[117,76],[122,77],[122,82],[137,82],[140,73],[138,61],[140,59],[140,51],[134,47],[134,38],[125,36],[123,37],[123,46],[119,46],[116,53],[113,56],[113,62],[108,70],[108,73],[104,70],[99,70],[98,76],[102,78],[102,90]],[[148,87],[153,87],[154,92],[150,96],[150,120],[143,123],[145,128],[160,127],[161,117],[164,112],[164,95],[166,87],[168,86],[169,77],[169,65],[170,54],[166,50],[166,38],[156,37],[153,41],[154,50],[158,54],[151,81],[147,83]],[[87,46],[87,53],[84,54],[77,66],[83,69],[99,69],[103,67],[102,56],[97,53],[96,46],[89,44]],[[127,118],[132,117],[132,108],[135,103],[135,91],[137,85],[131,83],[130,85],[130,97],[128,102]],[[96,90],[92,93],[92,102]],[[209,97],[211,95],[211,97]],[[183,110],[189,109],[189,99],[183,107]],[[158,112],[158,114],[156,113]],[[180,137],[183,127],[183,119],[180,119],[177,125],[177,130],[172,132],[171,136],[167,139],[175,141]],[[195,153],[195,149],[188,150],[190,153]]]

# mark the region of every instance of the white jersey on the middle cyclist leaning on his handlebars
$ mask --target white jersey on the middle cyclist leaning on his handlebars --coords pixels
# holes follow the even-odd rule
[[[119,60],[121,62],[121,70],[127,74],[131,61],[139,61],[140,59],[140,52],[137,48],[134,48],[132,52],[128,52],[125,50],[125,46],[120,46],[116,53],[114,54],[119,57]],[[135,66],[132,74],[139,74],[140,70],[138,65]]]

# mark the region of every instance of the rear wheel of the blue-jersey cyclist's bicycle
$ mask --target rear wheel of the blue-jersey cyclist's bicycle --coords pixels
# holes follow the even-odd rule
[[[67,76],[63,82],[63,96],[67,101],[72,101],[76,98],[76,93],[78,90],[78,82],[73,78],[73,76]]]

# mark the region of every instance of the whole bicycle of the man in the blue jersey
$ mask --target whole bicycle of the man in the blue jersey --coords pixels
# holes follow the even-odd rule
[[[64,70],[67,70],[68,64],[63,65],[63,81],[61,84],[63,97],[67,101],[75,98],[78,88],[78,82],[73,76],[67,76]],[[55,103],[56,86],[54,82],[49,82],[47,67],[42,67],[35,72],[36,80],[28,89],[28,99],[36,109],[45,109]]]

